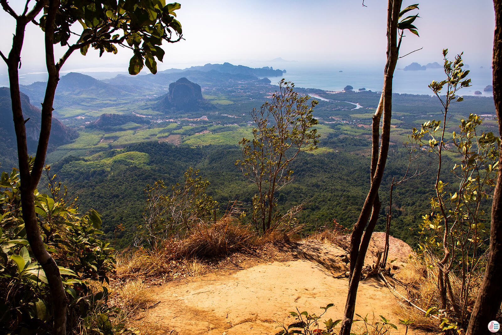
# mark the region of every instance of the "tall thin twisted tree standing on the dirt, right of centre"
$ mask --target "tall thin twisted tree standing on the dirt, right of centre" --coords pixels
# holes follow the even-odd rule
[[[389,152],[389,140],[391,133],[391,118],[392,118],[392,79],[396,64],[399,58],[399,49],[404,36],[404,31],[409,30],[418,36],[417,28],[413,22],[418,18],[417,15],[403,16],[415,9],[418,9],[418,4],[408,6],[401,11],[402,0],[389,0],[387,8],[387,62],[384,69],[384,87],[382,96],[375,114],[372,118],[372,140],[371,140],[371,186],[369,188],[364,204],[362,205],[361,213],[352,230],[350,237],[350,276],[349,289],[347,293],[347,301],[345,303],[345,311],[341,322],[340,335],[349,335],[352,318],[354,316],[355,300],[357,296],[357,287],[364,265],[364,257],[368,248],[371,234],[373,233],[380,213],[380,197],[379,188],[384,175],[385,164],[387,162],[387,154]],[[401,20],[401,21],[400,21]],[[398,30],[399,42],[398,42]],[[382,142],[380,144],[380,121],[382,123]],[[371,216],[370,216],[371,214]],[[369,219],[369,222],[368,222]],[[367,227],[366,227],[367,224]],[[364,229],[366,228],[365,232]],[[361,237],[364,233],[364,237]]]

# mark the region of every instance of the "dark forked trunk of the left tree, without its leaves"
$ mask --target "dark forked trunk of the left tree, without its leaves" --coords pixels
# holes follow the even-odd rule
[[[42,171],[45,165],[45,155],[47,153],[47,144],[51,131],[52,122],[52,103],[56,92],[57,82],[59,80],[59,71],[54,63],[53,36],[54,22],[56,12],[59,7],[59,1],[49,2],[47,23],[45,29],[46,63],[49,72],[46,95],[42,104],[42,123],[40,127],[39,143],[37,147],[37,156],[33,168],[30,171],[30,162],[28,157],[28,148],[26,140],[26,127],[21,107],[21,97],[19,90],[19,64],[21,62],[21,49],[24,42],[24,32],[28,22],[40,13],[46,2],[39,2],[28,15],[22,15],[17,18],[16,34],[13,38],[13,46],[7,59],[9,71],[9,84],[12,101],[12,113],[14,127],[16,131],[16,140],[18,144],[18,160],[21,178],[21,206],[23,208],[23,220],[27,240],[30,243],[31,250],[38,263],[45,272],[52,299],[52,308],[54,315],[54,328],[52,333],[56,335],[66,334],[66,293],[61,281],[59,268],[47,252],[44,242],[40,235],[37,214],[35,212],[34,190],[36,189]]]

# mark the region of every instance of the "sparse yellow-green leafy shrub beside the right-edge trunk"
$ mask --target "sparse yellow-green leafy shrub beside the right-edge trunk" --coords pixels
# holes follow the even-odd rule
[[[418,255],[427,266],[438,267],[441,308],[448,307],[448,295],[453,317],[465,325],[484,272],[487,233],[483,204],[495,185],[500,139],[491,132],[479,134],[483,120],[474,114],[462,119],[459,132],[448,137],[445,130],[449,106],[463,100],[456,92],[468,87],[470,79],[465,79],[469,71],[462,70],[462,54],[452,62],[447,60],[447,52],[443,50],[447,79],[429,85],[443,106],[443,121],[428,121],[420,130],[413,130],[413,137],[438,160],[436,196],[431,199],[433,212],[423,216]],[[442,98],[439,94],[445,85],[447,92]],[[440,179],[445,152],[456,157],[451,170],[453,183]],[[428,263],[435,259],[437,264]]]

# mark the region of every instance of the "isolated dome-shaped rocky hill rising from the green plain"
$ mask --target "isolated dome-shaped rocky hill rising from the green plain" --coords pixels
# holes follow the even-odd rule
[[[208,103],[202,97],[200,86],[187,78],[169,84],[169,93],[161,96],[158,107],[161,111],[206,109]]]

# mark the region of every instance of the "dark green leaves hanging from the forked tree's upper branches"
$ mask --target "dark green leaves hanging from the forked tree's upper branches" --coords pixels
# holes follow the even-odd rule
[[[144,65],[152,73],[157,72],[156,58],[162,61],[164,50],[162,41],[170,43],[181,39],[181,25],[175,19],[175,10],[180,4],[165,4],[165,1],[116,1],[87,2],[73,0],[65,2],[56,17],[54,43],[68,45],[72,35],[78,40],[69,49],[79,49],[82,55],[89,46],[99,50],[117,53],[115,45],[134,51],[130,60],[129,73],[138,74]],[[47,14],[40,19],[40,26],[45,30]],[[80,23],[82,32],[72,29],[74,23]],[[178,38],[173,38],[178,35]]]

